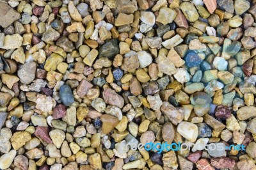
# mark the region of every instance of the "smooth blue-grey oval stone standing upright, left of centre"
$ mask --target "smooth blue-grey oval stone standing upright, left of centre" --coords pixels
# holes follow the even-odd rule
[[[70,106],[75,101],[72,90],[67,84],[60,87],[60,100],[65,106]]]

